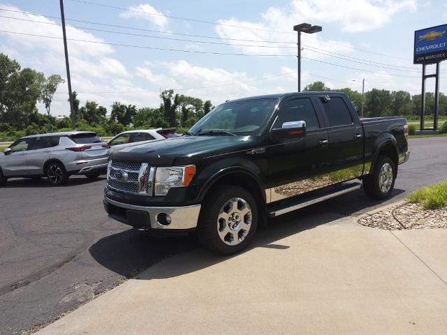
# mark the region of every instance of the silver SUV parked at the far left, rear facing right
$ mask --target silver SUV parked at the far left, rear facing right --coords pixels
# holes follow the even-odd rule
[[[0,153],[0,186],[11,177],[47,177],[53,185],[66,183],[72,174],[97,178],[107,170],[109,149],[87,131],[22,137]]]

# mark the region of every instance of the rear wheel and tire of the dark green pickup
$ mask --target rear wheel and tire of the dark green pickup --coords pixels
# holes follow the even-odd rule
[[[374,164],[372,174],[363,179],[363,191],[370,198],[376,200],[389,198],[393,192],[395,180],[395,163],[388,156],[379,156]]]

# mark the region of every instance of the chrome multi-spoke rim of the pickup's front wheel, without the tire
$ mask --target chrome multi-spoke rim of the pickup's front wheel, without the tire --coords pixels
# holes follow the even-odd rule
[[[251,208],[247,200],[228,200],[217,216],[217,233],[223,243],[236,246],[248,236],[251,228]]]

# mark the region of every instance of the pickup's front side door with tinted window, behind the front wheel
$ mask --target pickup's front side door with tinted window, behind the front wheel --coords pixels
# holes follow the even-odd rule
[[[305,121],[306,135],[281,140],[269,147],[270,201],[300,195],[325,186],[321,179],[328,156],[328,133],[313,98],[290,98],[279,107],[272,128]]]

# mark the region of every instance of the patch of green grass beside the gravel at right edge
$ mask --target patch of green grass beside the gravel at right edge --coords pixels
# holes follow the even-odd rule
[[[447,180],[414,191],[408,197],[411,202],[422,204],[425,209],[439,209],[447,206]]]

